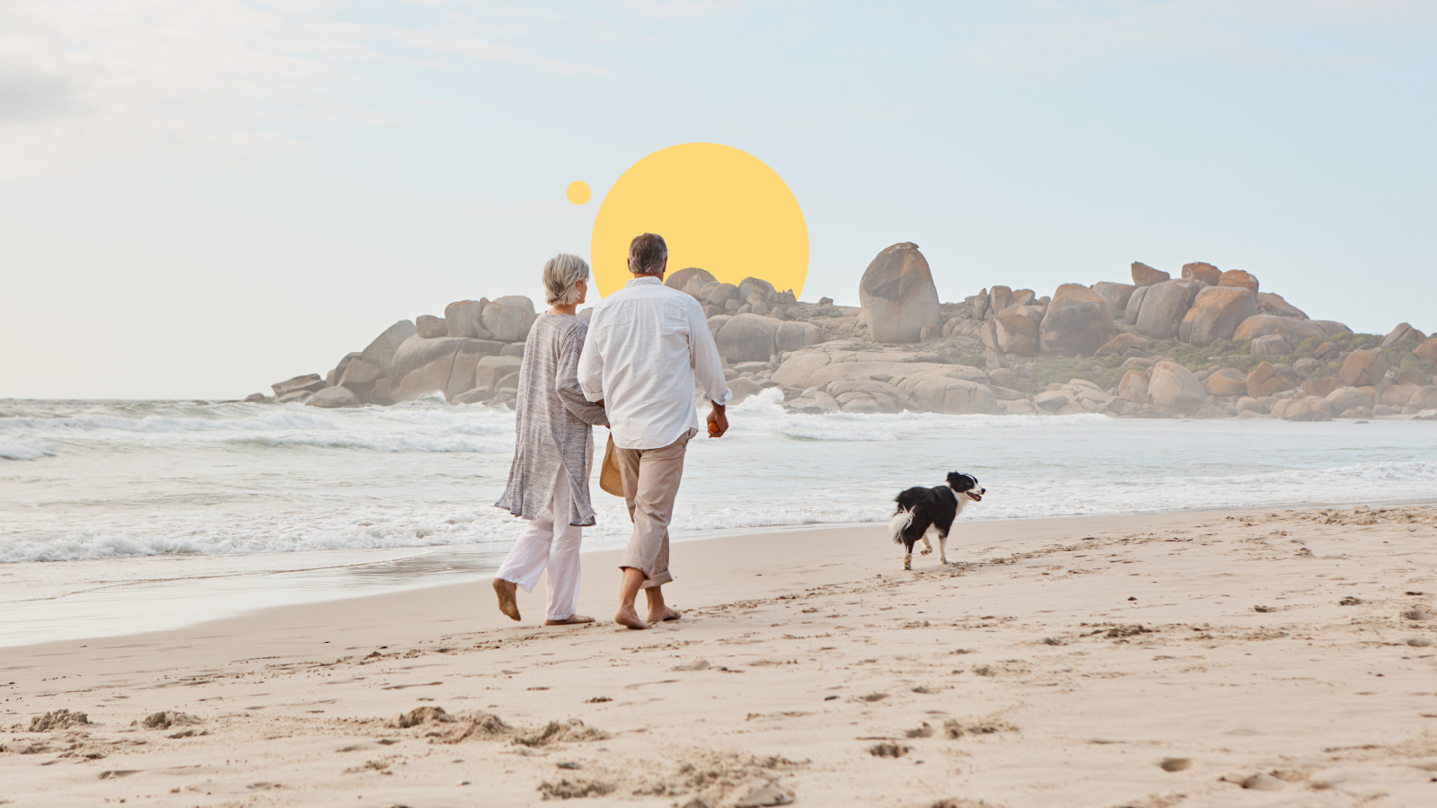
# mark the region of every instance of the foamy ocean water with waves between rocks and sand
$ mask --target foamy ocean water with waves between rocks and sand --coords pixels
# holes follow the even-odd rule
[[[966,519],[1437,499],[1433,421],[819,416],[766,391],[730,423],[690,444],[684,536],[884,522],[948,470],[989,489]],[[522,529],[493,508],[513,430],[441,400],[0,401],[0,644],[481,575]],[[586,548],[622,545],[622,502],[593,497]]]

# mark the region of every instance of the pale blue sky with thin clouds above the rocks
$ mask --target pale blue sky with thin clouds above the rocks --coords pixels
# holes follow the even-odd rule
[[[1206,260],[1431,331],[1434,98],[1430,1],[0,0],[0,398],[267,392],[540,298],[693,141],[787,181],[810,300],[917,242],[944,300]]]

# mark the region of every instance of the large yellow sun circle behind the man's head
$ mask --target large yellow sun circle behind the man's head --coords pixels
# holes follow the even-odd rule
[[[749,152],[683,144],[639,160],[614,183],[593,220],[589,257],[599,295],[627,283],[639,233],[668,244],[668,272],[697,266],[724,283],[762,277],[802,295],[809,242],[793,191]]]

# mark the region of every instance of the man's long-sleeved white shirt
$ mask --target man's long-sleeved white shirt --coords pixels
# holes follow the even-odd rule
[[[579,355],[579,387],[604,401],[614,444],[660,449],[701,428],[694,382],[706,401],[733,394],[704,309],[658,277],[635,277],[595,306]]]

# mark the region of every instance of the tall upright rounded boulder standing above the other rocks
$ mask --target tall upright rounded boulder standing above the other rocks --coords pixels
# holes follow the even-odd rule
[[[858,283],[859,319],[875,342],[918,342],[938,322],[938,290],[918,244],[902,242],[881,253]]]

